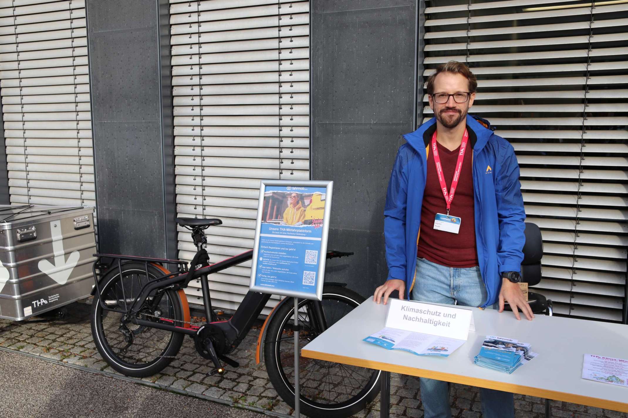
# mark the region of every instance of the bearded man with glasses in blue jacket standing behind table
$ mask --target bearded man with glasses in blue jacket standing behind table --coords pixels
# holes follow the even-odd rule
[[[514,149],[488,122],[467,115],[477,80],[463,63],[428,77],[435,117],[404,135],[388,184],[384,239],[389,269],[374,300],[401,299],[491,308],[504,301],[534,315],[518,282],[525,243]],[[421,378],[425,418],[450,418],[448,383]],[[514,417],[512,394],[481,389],[484,418]]]

